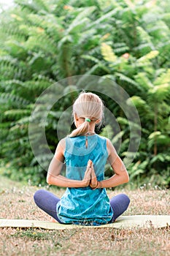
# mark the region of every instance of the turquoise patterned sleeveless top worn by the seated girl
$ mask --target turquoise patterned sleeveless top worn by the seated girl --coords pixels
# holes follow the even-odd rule
[[[102,181],[108,157],[107,140],[99,135],[67,137],[64,157],[67,178],[82,180],[91,159],[96,177]],[[67,188],[56,207],[58,218],[66,224],[104,225],[113,216],[106,189]]]

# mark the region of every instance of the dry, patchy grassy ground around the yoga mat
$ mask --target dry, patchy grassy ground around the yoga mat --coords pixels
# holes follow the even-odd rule
[[[131,198],[126,215],[170,214],[170,192],[158,187],[136,190],[108,190],[109,197],[125,192]],[[39,187],[23,187],[1,178],[1,218],[48,220],[34,204],[33,195]],[[64,189],[50,191],[61,197]],[[0,255],[114,255],[168,256],[170,230],[162,229],[73,229],[41,230],[0,228]]]

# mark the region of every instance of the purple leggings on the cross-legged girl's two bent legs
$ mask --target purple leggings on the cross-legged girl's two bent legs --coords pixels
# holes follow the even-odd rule
[[[47,190],[40,189],[35,192],[34,201],[39,208],[56,219],[59,223],[62,223],[60,219],[58,219],[56,212],[56,205],[60,201],[60,198]],[[110,205],[112,206],[114,213],[112,222],[123,214],[123,212],[128,208],[129,203],[130,199],[125,194],[116,195],[110,199]]]

